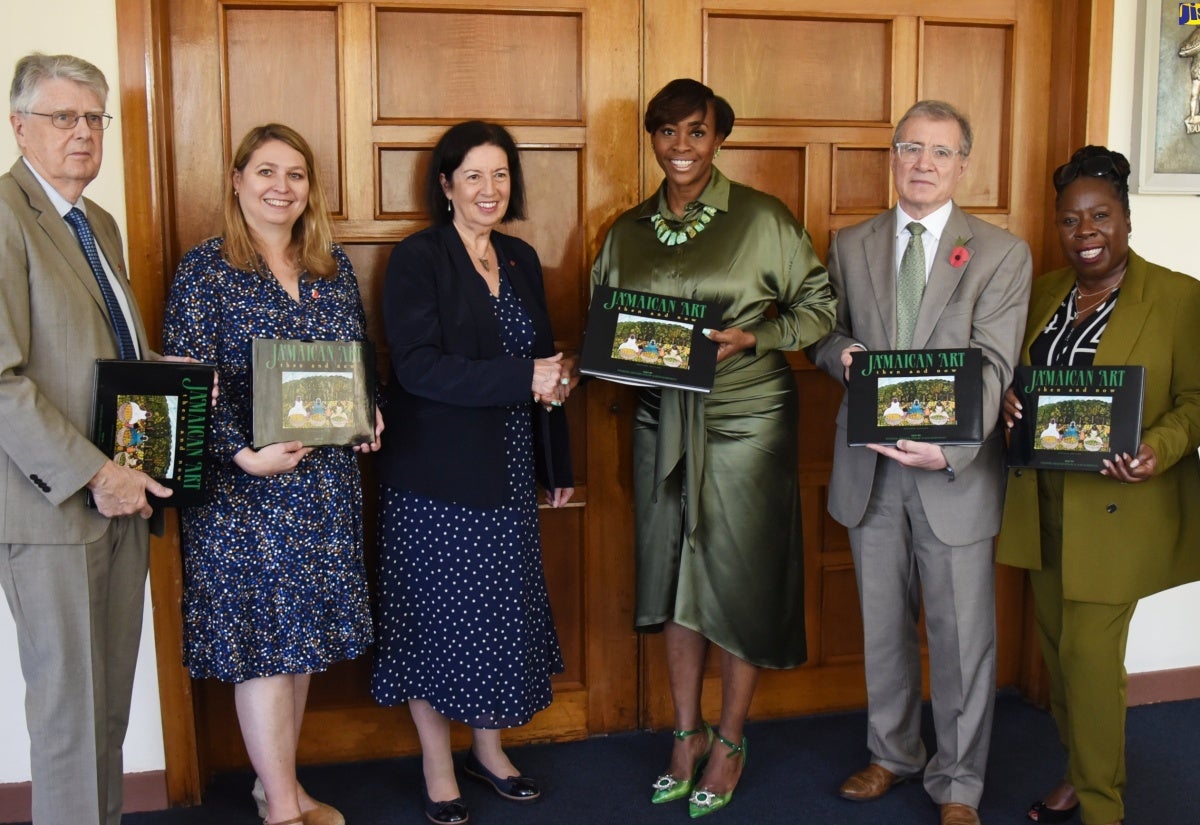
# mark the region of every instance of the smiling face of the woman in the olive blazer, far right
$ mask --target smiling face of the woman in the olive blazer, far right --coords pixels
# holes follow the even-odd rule
[[[1068,183],[1058,195],[1055,225],[1082,287],[1110,287],[1124,272],[1133,227],[1108,179],[1080,176]]]

